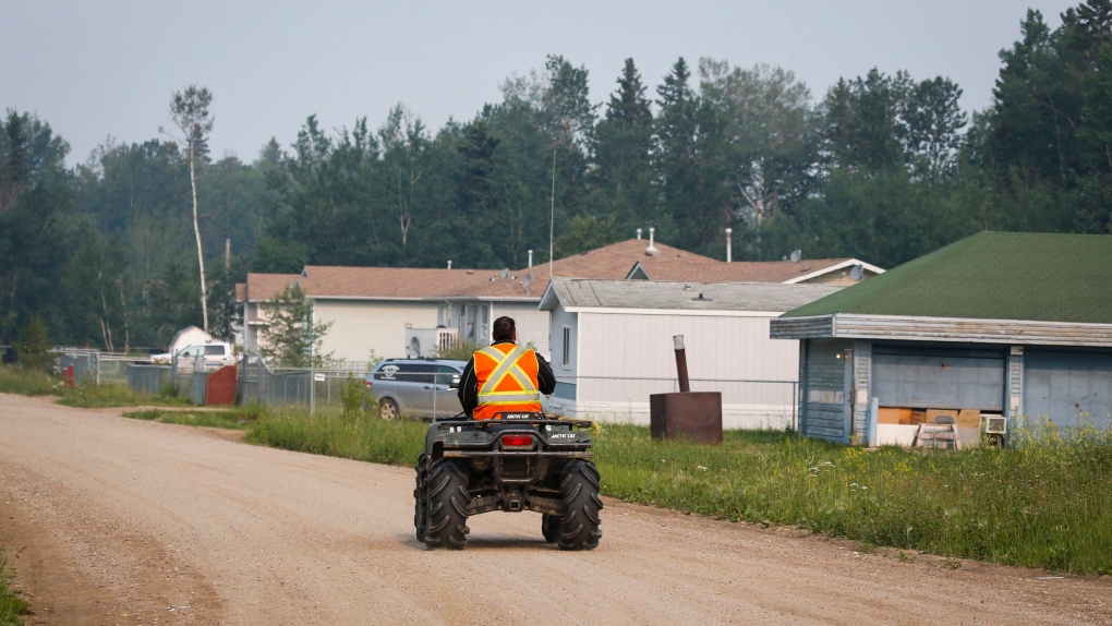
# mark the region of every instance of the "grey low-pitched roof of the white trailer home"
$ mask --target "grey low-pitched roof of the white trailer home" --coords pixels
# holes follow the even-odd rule
[[[778,282],[664,282],[554,278],[540,300],[552,310],[665,309],[782,312],[841,290],[827,285]]]

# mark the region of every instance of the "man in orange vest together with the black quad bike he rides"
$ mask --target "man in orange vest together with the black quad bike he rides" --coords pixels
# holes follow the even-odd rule
[[[603,535],[594,425],[546,417],[540,394],[556,388],[548,362],[517,346],[512,318],[496,319],[492,335],[494,344],[476,350],[460,376],[459,401],[470,415],[429,426],[416,468],[417,538],[463,549],[467,517],[534,510],[546,540],[593,549]]]

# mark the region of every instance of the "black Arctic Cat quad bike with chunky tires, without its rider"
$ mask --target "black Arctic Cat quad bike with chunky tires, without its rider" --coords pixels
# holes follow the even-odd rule
[[[429,426],[417,459],[414,525],[430,548],[464,549],[467,518],[534,510],[545,539],[565,550],[598,546],[598,469],[590,460],[590,421],[544,414],[465,416]]]

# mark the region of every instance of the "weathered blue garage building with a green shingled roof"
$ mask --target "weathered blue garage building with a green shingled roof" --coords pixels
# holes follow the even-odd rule
[[[1112,413],[1112,237],[981,232],[774,319],[804,435],[910,444],[932,416]],[[1004,421],[1006,425],[1006,420]]]

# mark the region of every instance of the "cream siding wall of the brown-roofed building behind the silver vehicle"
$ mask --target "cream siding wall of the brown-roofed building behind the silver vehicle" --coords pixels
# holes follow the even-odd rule
[[[370,350],[381,358],[406,356],[406,324],[436,328],[436,302],[316,300],[314,317],[332,320],[321,350],[349,361],[366,361]]]

